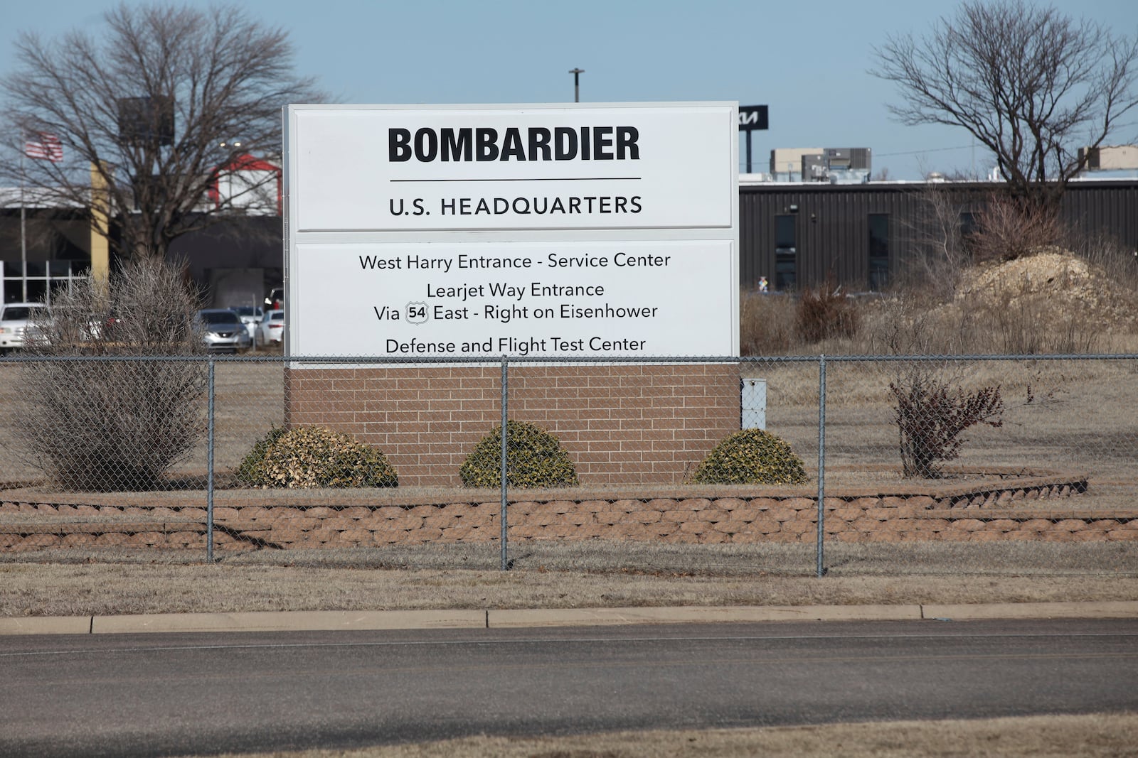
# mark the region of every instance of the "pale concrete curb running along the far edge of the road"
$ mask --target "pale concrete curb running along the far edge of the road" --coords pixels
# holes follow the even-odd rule
[[[143,632],[325,632],[339,630],[519,628],[786,620],[980,620],[995,618],[1138,618],[1138,601],[1000,602],[902,606],[692,606],[517,610],[298,610],[137,616],[0,618],[7,634]]]

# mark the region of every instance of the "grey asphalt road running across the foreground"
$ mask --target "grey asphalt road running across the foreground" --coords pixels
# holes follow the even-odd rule
[[[0,639],[0,755],[1138,709],[1138,622]]]

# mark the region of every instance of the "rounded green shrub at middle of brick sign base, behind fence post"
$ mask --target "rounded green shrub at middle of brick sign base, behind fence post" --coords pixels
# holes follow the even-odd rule
[[[577,468],[561,441],[534,424],[506,422],[505,461],[508,486],[577,486]],[[479,440],[459,475],[465,486],[502,486],[501,426]]]

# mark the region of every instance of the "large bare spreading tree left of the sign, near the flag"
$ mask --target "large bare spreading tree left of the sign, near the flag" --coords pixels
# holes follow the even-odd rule
[[[248,170],[244,156],[278,156],[281,107],[322,97],[292,75],[287,34],[237,6],[124,3],[98,36],[24,33],[15,52],[18,68],[0,81],[11,122],[0,173],[42,201],[105,207],[127,257],[263,213],[266,189],[275,205],[275,173]],[[35,134],[58,138],[64,159],[17,159]]]

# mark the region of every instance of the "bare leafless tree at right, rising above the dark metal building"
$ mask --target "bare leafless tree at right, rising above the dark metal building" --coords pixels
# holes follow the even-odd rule
[[[1053,210],[1138,105],[1138,38],[1023,0],[971,0],[926,36],[891,35],[873,75],[897,84],[902,123],[963,126],[996,157],[1013,198]]]

